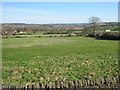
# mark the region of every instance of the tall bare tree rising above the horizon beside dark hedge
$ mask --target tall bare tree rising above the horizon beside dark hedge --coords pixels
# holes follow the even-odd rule
[[[97,23],[100,21],[100,18],[99,17],[90,17],[89,18],[89,23],[91,24],[92,28],[93,28],[93,35],[95,35],[95,31],[96,31],[96,28],[97,28]]]

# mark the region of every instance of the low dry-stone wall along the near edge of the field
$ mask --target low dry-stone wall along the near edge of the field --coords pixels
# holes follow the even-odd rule
[[[120,88],[120,76],[117,77],[104,77],[98,79],[77,80],[77,81],[61,81],[61,82],[49,82],[39,84],[26,84],[26,85],[8,85],[2,86],[3,89],[16,90],[21,88],[27,89],[64,89],[64,88]]]

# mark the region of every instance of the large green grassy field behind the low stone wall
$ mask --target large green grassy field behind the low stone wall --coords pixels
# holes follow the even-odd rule
[[[118,75],[118,41],[89,37],[2,40],[3,85]]]

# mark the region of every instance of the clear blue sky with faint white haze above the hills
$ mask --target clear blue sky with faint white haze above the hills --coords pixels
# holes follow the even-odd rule
[[[117,2],[3,2],[3,23],[87,23],[97,16],[102,22],[118,21]]]

